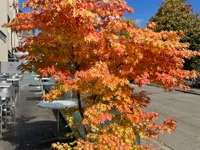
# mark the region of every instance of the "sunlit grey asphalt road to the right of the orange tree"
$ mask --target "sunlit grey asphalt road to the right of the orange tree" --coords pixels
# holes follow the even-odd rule
[[[177,121],[174,133],[160,135],[159,141],[166,149],[200,150],[200,95],[178,91],[164,92],[163,89],[153,86],[134,87],[137,91],[152,93],[147,111],[160,114],[158,123],[166,117],[172,117]]]

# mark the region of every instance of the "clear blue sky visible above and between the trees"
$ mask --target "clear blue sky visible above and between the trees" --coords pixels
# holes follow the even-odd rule
[[[23,2],[25,0],[19,0]],[[126,18],[135,19],[141,27],[145,27],[150,17],[154,15],[164,0],[126,0],[128,5],[134,9],[133,14],[125,14]],[[200,0],[187,0],[192,4],[195,12],[200,12]]]

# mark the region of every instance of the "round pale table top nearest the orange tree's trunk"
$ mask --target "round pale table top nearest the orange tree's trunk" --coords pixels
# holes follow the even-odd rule
[[[39,107],[50,108],[50,109],[64,109],[69,107],[78,106],[77,102],[72,100],[55,100],[52,102],[49,101],[40,101],[37,104]]]

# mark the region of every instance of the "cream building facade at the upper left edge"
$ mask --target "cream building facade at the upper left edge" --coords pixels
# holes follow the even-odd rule
[[[13,3],[18,0],[0,1],[0,62],[12,61],[13,49],[19,45],[18,36],[9,28],[2,25],[10,22],[18,13],[18,8],[13,8]]]

